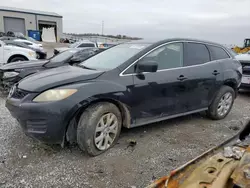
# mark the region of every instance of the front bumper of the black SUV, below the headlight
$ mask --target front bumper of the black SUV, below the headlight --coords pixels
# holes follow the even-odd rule
[[[37,94],[17,95],[23,99],[7,98],[6,107],[17,119],[24,133],[48,144],[62,144],[70,121],[67,102],[34,103]]]

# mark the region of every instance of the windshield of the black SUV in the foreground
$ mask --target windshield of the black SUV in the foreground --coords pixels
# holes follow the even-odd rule
[[[120,44],[87,59],[82,62],[80,66],[90,69],[111,70],[118,67],[147,46],[149,46],[149,44]]]

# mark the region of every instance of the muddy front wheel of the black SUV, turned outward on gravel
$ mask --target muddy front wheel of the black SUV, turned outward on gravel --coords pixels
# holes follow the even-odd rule
[[[111,122],[110,125],[108,125],[108,122]],[[103,126],[104,124],[107,127]],[[116,128],[114,129],[113,127]],[[86,151],[89,155],[100,155],[116,144],[121,127],[121,113],[114,104],[108,102],[94,104],[88,107],[80,117],[77,127],[77,143],[80,149]],[[100,129],[103,129],[103,131],[99,131]],[[116,134],[112,132],[116,132]],[[99,138],[102,137],[103,139],[98,142]],[[113,140],[112,142],[110,138]],[[108,141],[105,145],[106,140]]]

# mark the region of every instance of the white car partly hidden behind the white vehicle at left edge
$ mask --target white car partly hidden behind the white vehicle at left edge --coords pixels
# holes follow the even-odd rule
[[[43,48],[33,48],[31,46],[26,45],[23,42],[18,42],[18,41],[13,41],[13,40],[6,40],[6,41],[4,41],[4,43],[6,45],[10,45],[10,46],[17,46],[17,47],[21,47],[21,48],[27,48],[27,49],[34,50],[36,52],[37,59],[46,59],[47,58],[47,52],[45,52],[43,50]]]

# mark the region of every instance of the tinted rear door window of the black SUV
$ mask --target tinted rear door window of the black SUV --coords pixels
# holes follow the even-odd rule
[[[200,65],[210,61],[209,51],[204,44],[186,43],[184,66]]]

